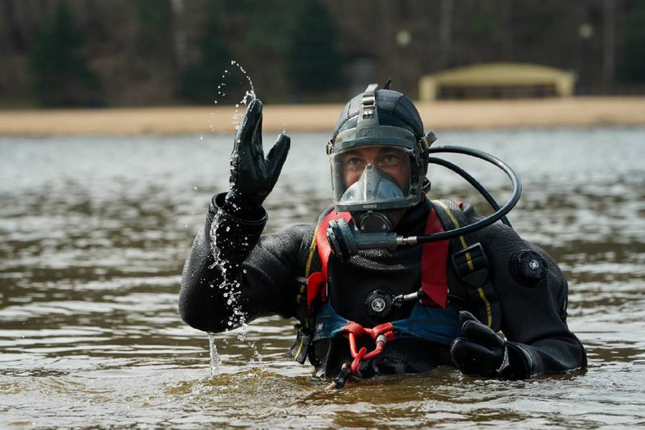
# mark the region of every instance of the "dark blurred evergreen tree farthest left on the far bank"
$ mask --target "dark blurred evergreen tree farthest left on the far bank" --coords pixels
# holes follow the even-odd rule
[[[99,79],[81,53],[86,35],[60,0],[50,26],[41,30],[30,50],[32,87],[42,105],[79,106],[99,103]]]

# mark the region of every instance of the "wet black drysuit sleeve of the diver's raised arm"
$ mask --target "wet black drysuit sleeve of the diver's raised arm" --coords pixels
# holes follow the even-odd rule
[[[313,227],[261,234],[266,211],[250,214],[253,220],[237,218],[222,209],[224,195],[213,196],[184,265],[182,319],[195,329],[217,333],[260,316],[293,316],[294,279],[304,272],[304,242],[312,240]]]

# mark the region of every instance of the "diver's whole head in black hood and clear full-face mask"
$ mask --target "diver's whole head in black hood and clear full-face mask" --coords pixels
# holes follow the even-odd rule
[[[362,232],[392,231],[402,210],[424,196],[430,136],[412,102],[368,86],[345,107],[327,145],[335,209]]]

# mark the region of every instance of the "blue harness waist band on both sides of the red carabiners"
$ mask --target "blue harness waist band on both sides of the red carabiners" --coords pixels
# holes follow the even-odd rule
[[[323,303],[316,314],[313,325],[313,339],[315,342],[322,339],[341,336],[342,328],[349,320],[342,318],[332,307],[330,300]],[[445,309],[438,306],[424,306],[416,303],[410,318],[392,323],[395,338],[415,338],[426,342],[450,345],[455,338],[461,336],[459,315],[451,305]]]

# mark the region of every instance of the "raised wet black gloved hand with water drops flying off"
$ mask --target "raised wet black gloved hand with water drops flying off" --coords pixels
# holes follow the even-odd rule
[[[262,102],[253,99],[237,128],[231,154],[230,187],[223,209],[241,218],[254,217],[280,175],[291,139],[278,136],[264,158],[262,147]]]

